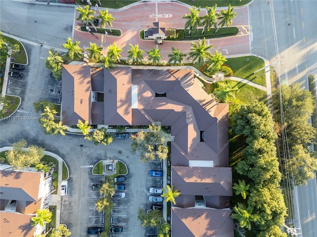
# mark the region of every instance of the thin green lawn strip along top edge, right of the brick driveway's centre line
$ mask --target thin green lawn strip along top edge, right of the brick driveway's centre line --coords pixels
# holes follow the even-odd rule
[[[194,5],[197,7],[206,7],[206,6],[214,6],[217,4],[217,7],[225,7],[231,4],[231,6],[242,6],[249,3],[251,0],[180,0],[180,2],[186,3],[188,5]]]

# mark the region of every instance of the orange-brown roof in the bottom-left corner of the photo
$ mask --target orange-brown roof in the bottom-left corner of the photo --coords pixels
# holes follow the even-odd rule
[[[31,226],[32,215],[0,212],[1,237],[33,237],[34,227]]]

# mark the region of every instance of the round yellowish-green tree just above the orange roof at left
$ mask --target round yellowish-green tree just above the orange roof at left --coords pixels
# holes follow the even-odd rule
[[[44,157],[44,149],[36,145],[27,146],[24,139],[12,144],[12,149],[5,156],[13,170],[19,170],[38,164]]]

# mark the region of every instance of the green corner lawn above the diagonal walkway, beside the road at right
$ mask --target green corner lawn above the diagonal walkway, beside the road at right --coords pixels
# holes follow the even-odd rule
[[[234,77],[243,78],[259,85],[266,86],[265,74],[259,76],[258,78],[253,74],[253,72],[264,67],[264,61],[262,58],[256,56],[228,58],[224,64],[228,65],[233,70]],[[264,70],[257,73],[257,75],[260,75],[263,72]]]

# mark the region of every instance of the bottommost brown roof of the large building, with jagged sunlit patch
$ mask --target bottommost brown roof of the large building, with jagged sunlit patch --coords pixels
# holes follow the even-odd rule
[[[172,237],[233,237],[232,210],[172,207]]]

